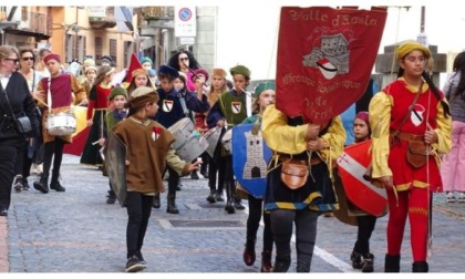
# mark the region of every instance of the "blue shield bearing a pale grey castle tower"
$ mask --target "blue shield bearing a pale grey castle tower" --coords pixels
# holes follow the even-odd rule
[[[232,127],[234,175],[255,198],[265,197],[267,163],[271,156],[271,149],[265,143],[259,125],[241,124]]]

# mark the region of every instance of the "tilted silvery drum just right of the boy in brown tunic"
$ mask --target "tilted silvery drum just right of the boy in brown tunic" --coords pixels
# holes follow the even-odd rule
[[[173,148],[179,158],[186,162],[193,162],[208,148],[208,142],[200,136],[194,123],[187,117],[176,122],[168,131],[176,138]]]

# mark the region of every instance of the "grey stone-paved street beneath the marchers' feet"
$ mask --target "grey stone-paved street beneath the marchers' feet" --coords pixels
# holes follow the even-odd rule
[[[0,272],[122,272],[126,264],[127,215],[118,204],[106,205],[107,179],[93,167],[65,155],[65,193],[34,189],[12,194],[7,219],[0,219]],[[32,184],[32,182],[31,182]],[[143,247],[145,272],[259,272],[242,262],[247,209],[228,215],[224,203],[209,205],[207,180],[183,178],[179,215],[153,209]],[[432,272],[465,271],[465,204],[434,198]],[[383,271],[386,217],[380,218],[371,241],[375,272]],[[409,226],[407,226],[409,227]],[[8,228],[8,234],[7,234]],[[261,228],[258,246],[261,245]],[[356,272],[350,266],[356,228],[320,217],[313,272]],[[411,272],[409,229],[401,270]],[[259,255],[260,250],[257,249]],[[290,271],[294,271],[293,265]]]

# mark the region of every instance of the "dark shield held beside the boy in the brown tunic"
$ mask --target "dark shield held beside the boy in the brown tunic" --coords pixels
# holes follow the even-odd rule
[[[116,194],[116,199],[122,207],[126,205],[126,145],[115,136],[108,133],[105,148],[105,166],[108,174],[110,183]]]

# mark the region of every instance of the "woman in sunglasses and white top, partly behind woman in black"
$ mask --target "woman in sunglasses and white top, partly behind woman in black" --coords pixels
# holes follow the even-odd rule
[[[25,81],[28,82],[28,86],[30,92],[34,92],[38,87],[39,81],[43,78],[42,73],[39,73],[34,70],[34,60],[35,55],[32,49],[22,49],[19,52],[20,56],[20,68],[18,72],[20,72]],[[35,108],[35,117],[39,122],[39,128],[42,130],[41,120],[42,113],[37,107]],[[31,166],[39,175],[42,173],[42,161],[43,161],[43,148],[42,154],[40,153],[40,146],[43,140],[41,136],[28,138],[24,143],[24,148],[21,149],[21,154],[19,154],[17,164],[16,164],[16,174],[13,182],[13,188],[17,192],[28,190],[29,183],[28,177],[31,174]]]

